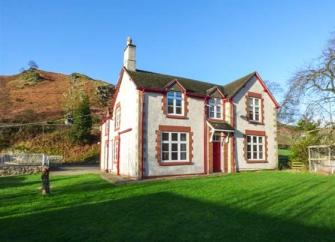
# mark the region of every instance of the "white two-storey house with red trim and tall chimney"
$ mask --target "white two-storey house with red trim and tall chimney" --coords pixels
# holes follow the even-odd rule
[[[101,169],[137,179],[275,169],[278,108],[257,72],[222,86],[138,70],[128,38]]]

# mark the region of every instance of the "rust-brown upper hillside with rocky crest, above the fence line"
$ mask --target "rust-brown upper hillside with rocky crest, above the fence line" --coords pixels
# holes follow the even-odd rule
[[[71,78],[77,78],[90,98],[91,111],[101,116],[105,111],[97,99],[96,89],[108,86],[104,81],[73,73],[48,72],[30,69],[11,76],[0,76],[0,123],[19,122],[19,117],[29,113],[34,120],[54,120],[63,117],[64,93]]]

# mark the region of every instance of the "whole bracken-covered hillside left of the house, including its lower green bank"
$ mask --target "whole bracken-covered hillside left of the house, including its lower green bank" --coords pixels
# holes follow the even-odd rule
[[[64,125],[65,94],[69,94],[71,83],[72,89],[80,88],[89,97],[93,128],[86,143],[70,142],[70,126]],[[99,121],[113,90],[113,85],[79,73],[65,75],[31,68],[17,75],[0,76],[0,124],[5,124],[0,127],[0,152],[62,155],[65,162],[97,161]],[[49,123],[6,127],[8,123],[37,121]]]

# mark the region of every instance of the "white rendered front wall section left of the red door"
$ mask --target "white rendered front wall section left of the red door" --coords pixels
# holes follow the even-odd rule
[[[196,174],[204,172],[204,101],[188,97],[188,119],[167,118],[162,110],[162,94],[145,93],[145,176]],[[160,166],[156,159],[156,130],[159,125],[187,126],[193,132],[192,165]]]

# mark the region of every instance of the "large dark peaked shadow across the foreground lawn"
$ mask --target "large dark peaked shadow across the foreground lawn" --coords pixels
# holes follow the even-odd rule
[[[335,231],[169,192],[0,220],[1,241],[333,241]]]

